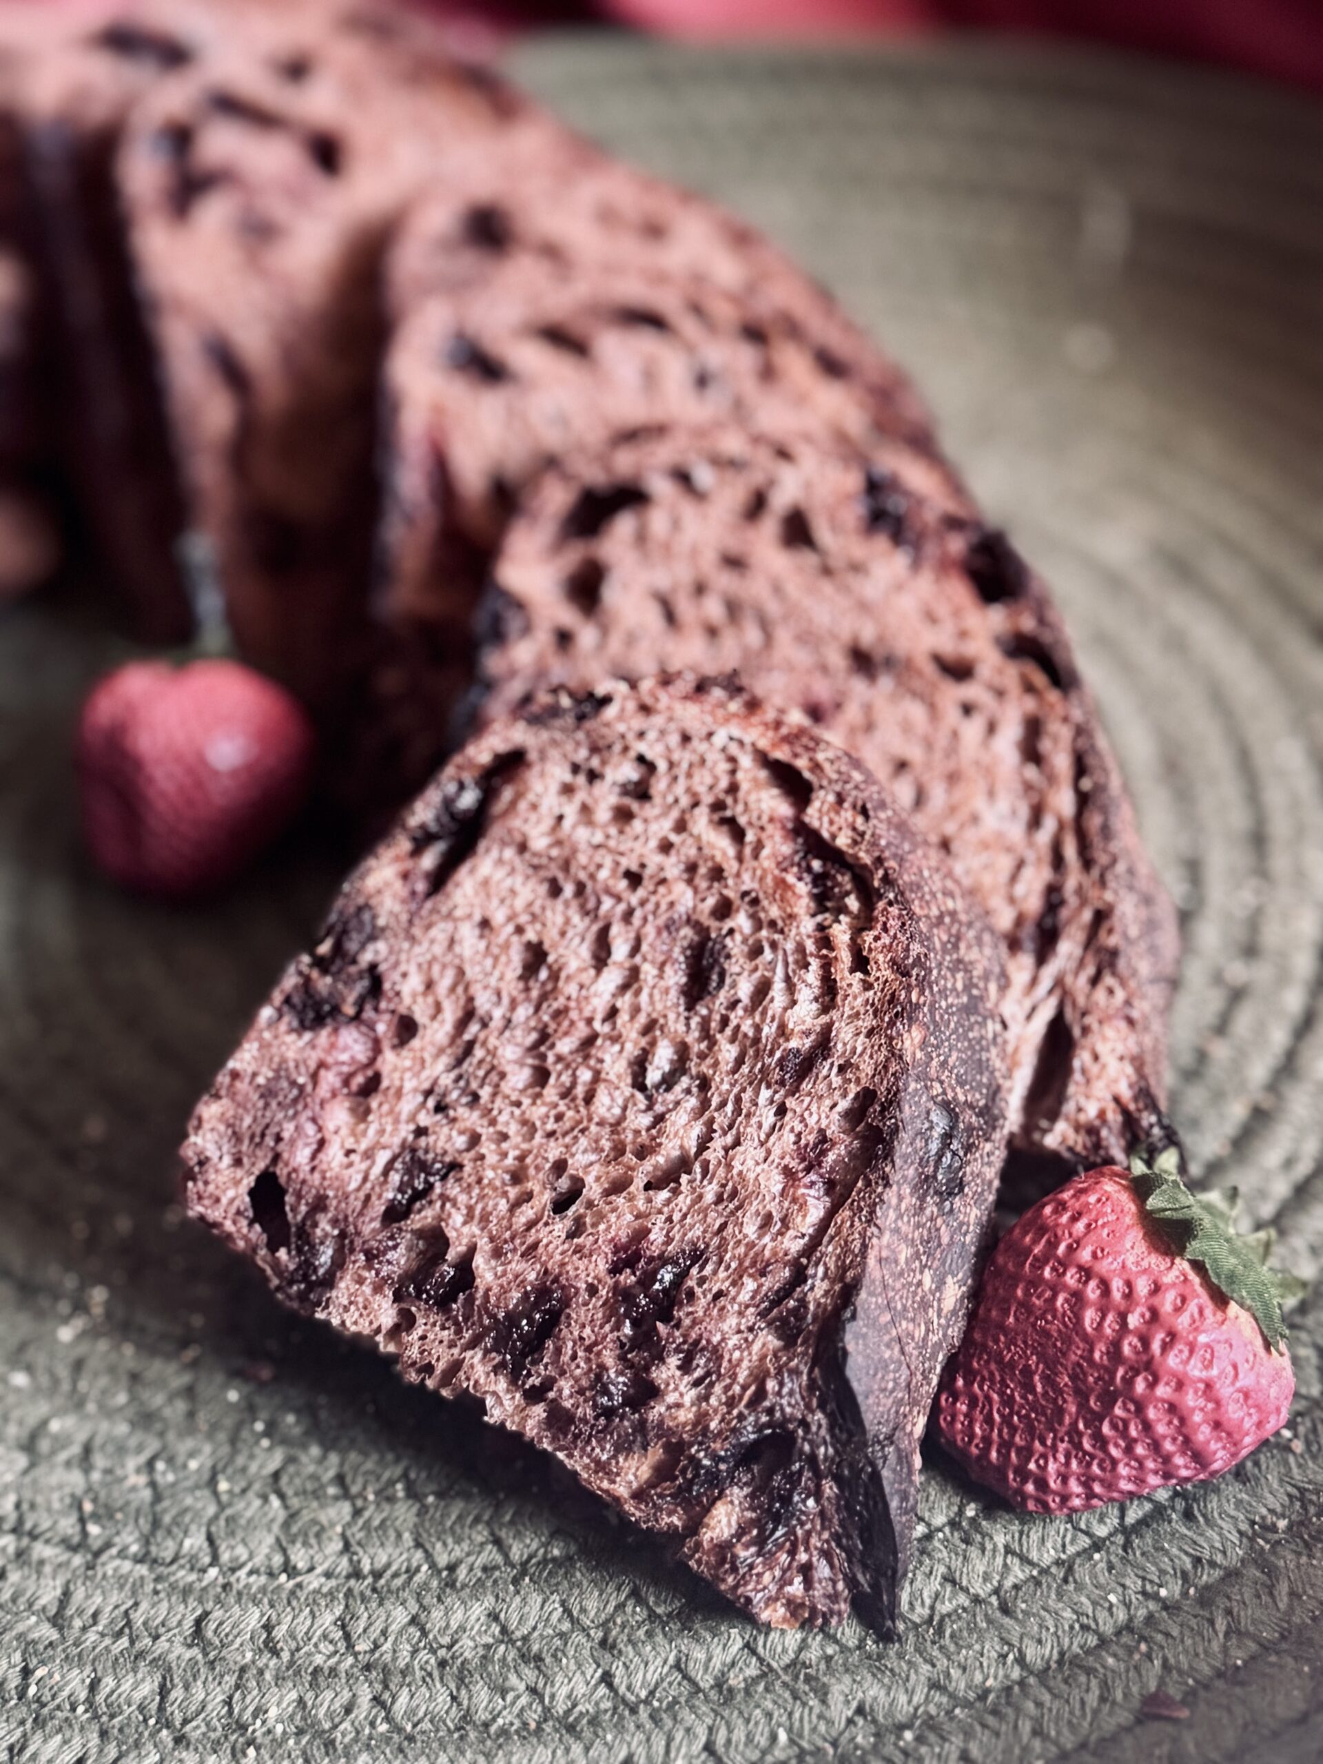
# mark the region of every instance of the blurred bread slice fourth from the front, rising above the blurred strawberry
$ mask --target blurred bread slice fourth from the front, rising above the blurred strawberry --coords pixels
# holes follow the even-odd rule
[[[118,175],[238,647],[333,716],[363,662],[385,242],[448,152],[527,108],[402,11],[328,5],[270,35],[139,104]]]

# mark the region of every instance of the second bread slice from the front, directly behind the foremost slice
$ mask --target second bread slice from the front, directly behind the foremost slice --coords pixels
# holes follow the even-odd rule
[[[923,453],[721,427],[545,473],[483,619],[480,713],[697,669],[857,755],[1005,944],[1013,1143],[1124,1162],[1162,1122],[1177,935],[1043,584]]]

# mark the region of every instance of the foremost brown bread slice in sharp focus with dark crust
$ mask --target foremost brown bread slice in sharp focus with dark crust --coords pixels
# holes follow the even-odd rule
[[[349,878],[191,1212],[762,1621],[891,1630],[1004,1132],[995,938],[730,684],[554,695]]]

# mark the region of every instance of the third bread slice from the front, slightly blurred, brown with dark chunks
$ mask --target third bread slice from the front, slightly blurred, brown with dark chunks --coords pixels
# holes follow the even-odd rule
[[[900,369],[762,235],[570,134],[457,166],[388,279],[388,619],[464,617],[531,475],[623,429],[794,413],[935,452]]]

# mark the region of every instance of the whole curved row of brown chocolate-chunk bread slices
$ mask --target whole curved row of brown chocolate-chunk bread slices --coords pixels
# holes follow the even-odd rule
[[[818,286],[415,16],[0,35],[0,374],[58,374],[0,506],[58,483],[143,639],[222,603],[342,801],[422,789],[192,1210],[746,1611],[891,1630],[1007,1155],[1168,1134],[1173,916],[1046,589]]]

